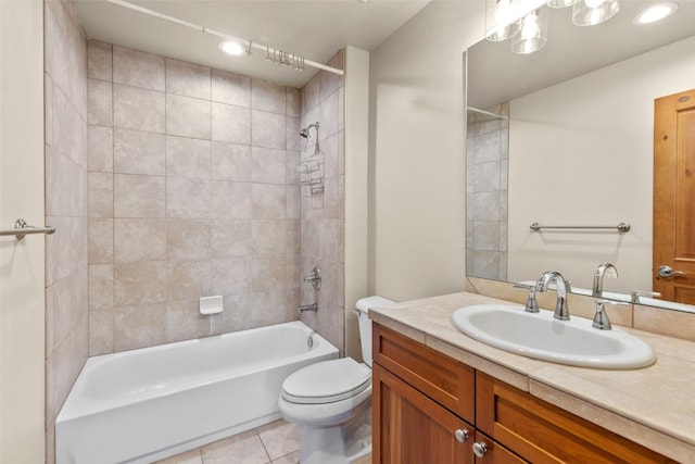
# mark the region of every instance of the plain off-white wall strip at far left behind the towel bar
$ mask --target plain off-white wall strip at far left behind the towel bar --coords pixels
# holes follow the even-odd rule
[[[43,9],[0,1],[0,228],[43,223]],[[0,462],[45,461],[45,239],[0,237]]]

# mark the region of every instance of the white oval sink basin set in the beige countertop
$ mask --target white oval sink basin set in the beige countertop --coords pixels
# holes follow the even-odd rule
[[[558,321],[549,311],[528,313],[523,306],[478,304],[456,310],[454,326],[467,336],[502,350],[573,366],[633,369],[654,364],[652,348],[620,329],[598,330],[592,321]]]

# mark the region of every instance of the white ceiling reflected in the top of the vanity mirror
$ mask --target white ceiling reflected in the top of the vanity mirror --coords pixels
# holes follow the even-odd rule
[[[611,63],[695,35],[695,1],[680,0],[675,14],[643,26],[634,16],[660,0],[622,0],[620,11],[596,26],[574,26],[571,8],[551,9],[545,48],[514,54],[509,41],[481,41],[468,52],[468,105],[489,109]]]

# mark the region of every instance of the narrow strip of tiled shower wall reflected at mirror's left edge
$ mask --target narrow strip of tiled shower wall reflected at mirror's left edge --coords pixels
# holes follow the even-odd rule
[[[466,274],[507,279],[509,104],[468,111],[466,140]]]

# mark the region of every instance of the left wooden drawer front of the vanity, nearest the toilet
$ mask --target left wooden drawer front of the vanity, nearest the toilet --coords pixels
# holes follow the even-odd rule
[[[378,324],[374,361],[470,423],[475,418],[475,371]]]

